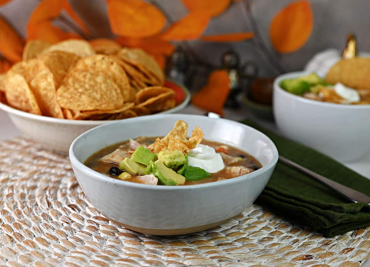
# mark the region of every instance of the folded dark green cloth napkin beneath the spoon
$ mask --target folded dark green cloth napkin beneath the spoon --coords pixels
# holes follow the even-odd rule
[[[275,143],[280,155],[370,196],[370,180],[357,172],[311,148],[263,129],[254,121],[243,123],[265,133]],[[370,226],[370,205],[353,203],[280,162],[256,202],[308,224],[327,237]]]

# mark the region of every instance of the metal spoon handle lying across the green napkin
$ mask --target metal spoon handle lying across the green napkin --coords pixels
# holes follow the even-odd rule
[[[349,188],[345,185],[339,184],[339,183],[334,182],[334,181],[332,181],[332,180],[330,180],[326,177],[323,177],[322,175],[317,174],[316,172],[311,171],[311,170],[297,164],[296,162],[288,160],[287,158],[282,157],[280,155],[279,155],[279,161],[281,161],[282,163],[284,163],[284,164],[286,164],[290,167],[295,168],[297,171],[300,171],[300,172],[303,172],[304,174],[309,175],[310,177],[312,177],[312,178],[316,179],[317,181],[323,183],[324,185],[332,188],[334,191],[338,192],[339,194],[343,195],[344,197],[348,198],[349,200],[351,200],[353,202],[370,203],[370,197],[365,195],[365,194],[362,194],[359,191],[356,191],[356,190],[354,190],[352,188]]]

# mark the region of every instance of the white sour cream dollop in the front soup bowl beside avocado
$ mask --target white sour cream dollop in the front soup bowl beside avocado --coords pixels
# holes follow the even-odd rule
[[[202,168],[209,173],[215,173],[225,168],[221,155],[216,153],[213,147],[203,144],[189,150],[188,161],[190,166]]]

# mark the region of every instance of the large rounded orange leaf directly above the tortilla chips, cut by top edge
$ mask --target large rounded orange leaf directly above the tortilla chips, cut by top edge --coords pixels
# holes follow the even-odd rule
[[[161,11],[142,0],[109,0],[107,5],[111,29],[117,35],[147,37],[166,25]]]

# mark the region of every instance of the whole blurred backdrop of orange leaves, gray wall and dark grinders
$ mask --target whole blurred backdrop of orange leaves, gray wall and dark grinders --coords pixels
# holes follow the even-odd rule
[[[339,60],[349,34],[357,51],[370,45],[370,5],[364,0],[0,0],[0,5],[3,25],[23,39],[15,42],[19,49],[9,51],[15,45],[7,42],[6,30],[0,33],[1,60],[7,61],[1,72],[21,60],[18,50],[30,40],[110,39],[144,49],[169,78],[190,90],[193,106],[221,115],[248,106],[272,120],[276,76],[307,70],[315,55],[329,50],[308,68],[324,76],[317,65],[328,57],[330,64]]]

